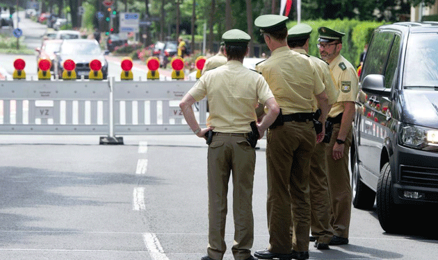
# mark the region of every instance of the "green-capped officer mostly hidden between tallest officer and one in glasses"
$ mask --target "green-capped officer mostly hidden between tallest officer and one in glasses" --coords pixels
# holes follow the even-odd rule
[[[290,28],[287,35],[289,48],[298,53],[309,53],[309,37],[311,31],[311,26],[307,24],[297,24]],[[310,58],[314,62],[318,75],[321,77],[321,80],[323,80],[328,103],[329,106],[332,107],[339,96],[339,90],[334,87],[332,73],[330,73],[328,63],[314,56],[310,56]],[[317,109],[316,99],[314,99],[314,112]],[[316,239],[316,248],[319,250],[330,249],[328,244],[333,237],[333,228],[330,225],[332,205],[330,204],[325,166],[327,163],[325,159],[326,145],[324,142],[316,144],[310,162],[311,234],[312,237]]]

